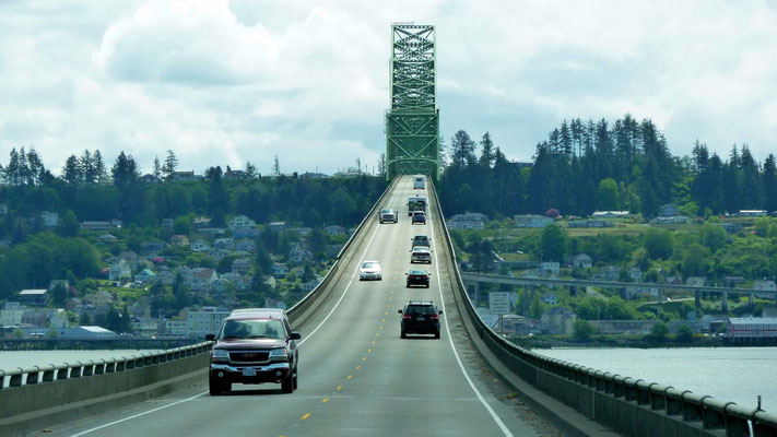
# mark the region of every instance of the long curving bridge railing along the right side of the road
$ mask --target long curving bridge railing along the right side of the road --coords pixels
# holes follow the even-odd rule
[[[432,191],[451,255],[455,287],[474,326],[470,334],[480,338],[513,373],[586,417],[624,435],[777,436],[777,415],[763,410],[549,358],[504,339],[483,322],[467,294],[434,185]]]

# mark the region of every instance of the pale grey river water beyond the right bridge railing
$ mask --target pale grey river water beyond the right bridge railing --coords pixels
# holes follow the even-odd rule
[[[552,349],[552,357],[777,412],[777,347]]]

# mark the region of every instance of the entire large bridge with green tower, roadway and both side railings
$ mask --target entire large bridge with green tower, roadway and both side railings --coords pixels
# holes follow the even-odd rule
[[[391,184],[321,284],[289,311],[303,335],[298,390],[235,385],[231,395],[209,395],[211,344],[204,342],[98,363],[5,369],[0,435],[557,434],[538,428],[537,415],[569,435],[777,435],[777,416],[762,410],[543,357],[480,319],[433,184],[439,172],[434,27],[392,31]],[[416,173],[432,179],[427,224],[379,224],[381,208],[407,217],[407,199],[417,191],[403,175]],[[432,237],[429,288],[404,286],[416,234]],[[358,281],[363,260],[380,261],[382,281]],[[400,339],[397,310],[410,299],[443,309],[439,340]]]

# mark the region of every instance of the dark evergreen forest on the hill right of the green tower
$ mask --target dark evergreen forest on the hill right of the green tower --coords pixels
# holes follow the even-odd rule
[[[490,216],[557,209],[564,215],[628,210],[655,216],[666,203],[688,214],[777,210],[775,156],[758,163],[746,144],[729,156],[696,143],[692,156],[674,156],[652,121],[626,115],[564,121],[537,144],[532,163],[507,160],[485,133],[480,144],[464,131],[450,143],[440,181],[446,215],[466,211]]]

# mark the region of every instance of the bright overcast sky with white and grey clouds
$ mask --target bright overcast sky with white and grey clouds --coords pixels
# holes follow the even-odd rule
[[[777,151],[777,0],[0,0],[0,164],[333,173],[385,151],[390,24],[437,29],[440,129],[514,161],[563,119],[650,118],[673,154]]]

